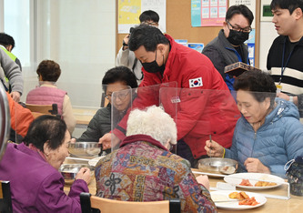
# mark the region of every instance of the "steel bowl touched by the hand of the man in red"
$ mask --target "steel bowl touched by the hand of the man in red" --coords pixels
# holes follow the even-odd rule
[[[70,154],[76,157],[94,158],[101,151],[101,144],[97,142],[76,142],[68,147]]]

